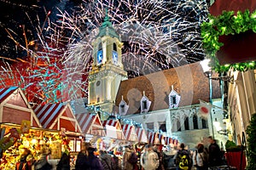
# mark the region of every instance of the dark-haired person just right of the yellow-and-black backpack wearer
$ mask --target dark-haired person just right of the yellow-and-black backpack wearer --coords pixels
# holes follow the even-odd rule
[[[203,144],[197,144],[197,150],[193,154],[193,165],[196,170],[207,170],[208,156]]]

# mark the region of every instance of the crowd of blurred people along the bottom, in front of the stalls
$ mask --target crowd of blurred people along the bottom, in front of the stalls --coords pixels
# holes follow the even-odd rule
[[[208,167],[217,167],[223,160],[223,154],[212,137],[208,138],[210,144],[197,144],[196,150],[186,150],[185,144],[180,144],[173,157],[177,170],[207,170]],[[132,145],[125,145],[122,156],[113,154],[113,150],[100,150],[95,155],[96,148],[90,143],[84,143],[75,161],[76,170],[165,170],[165,154],[158,145],[146,144],[143,150],[137,151]],[[15,170],[70,170],[70,156],[62,153],[61,160],[56,167],[49,164],[49,150],[42,148],[37,161],[32,158],[31,152],[24,149],[20,154],[20,161],[16,163]]]

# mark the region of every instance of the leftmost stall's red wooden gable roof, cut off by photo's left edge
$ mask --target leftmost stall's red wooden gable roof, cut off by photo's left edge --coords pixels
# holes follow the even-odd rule
[[[23,120],[30,121],[32,127],[42,127],[20,88],[0,88],[0,122],[21,124]]]

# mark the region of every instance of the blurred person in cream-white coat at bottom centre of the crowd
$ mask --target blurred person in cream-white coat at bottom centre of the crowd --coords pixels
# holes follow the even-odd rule
[[[154,152],[151,144],[145,146],[145,151],[141,156],[141,165],[145,170],[155,170],[159,167],[159,157]]]

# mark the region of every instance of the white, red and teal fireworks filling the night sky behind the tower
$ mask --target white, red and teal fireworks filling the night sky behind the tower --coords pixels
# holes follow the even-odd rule
[[[20,26],[23,36],[19,39],[14,37],[15,31],[7,29],[16,47],[26,52],[26,58],[2,65],[9,77],[1,77],[1,86],[15,80],[13,85],[24,88],[31,101],[45,103],[86,97],[93,56],[91,42],[106,8],[124,42],[122,59],[129,77],[186,65],[204,57],[200,24],[207,19],[206,0],[84,0],[72,13],[59,7],[54,21],[49,20],[50,13],[46,12],[44,22],[37,19],[38,26],[33,31]],[[34,21],[30,21],[34,26]],[[26,38],[27,33],[34,38]]]

